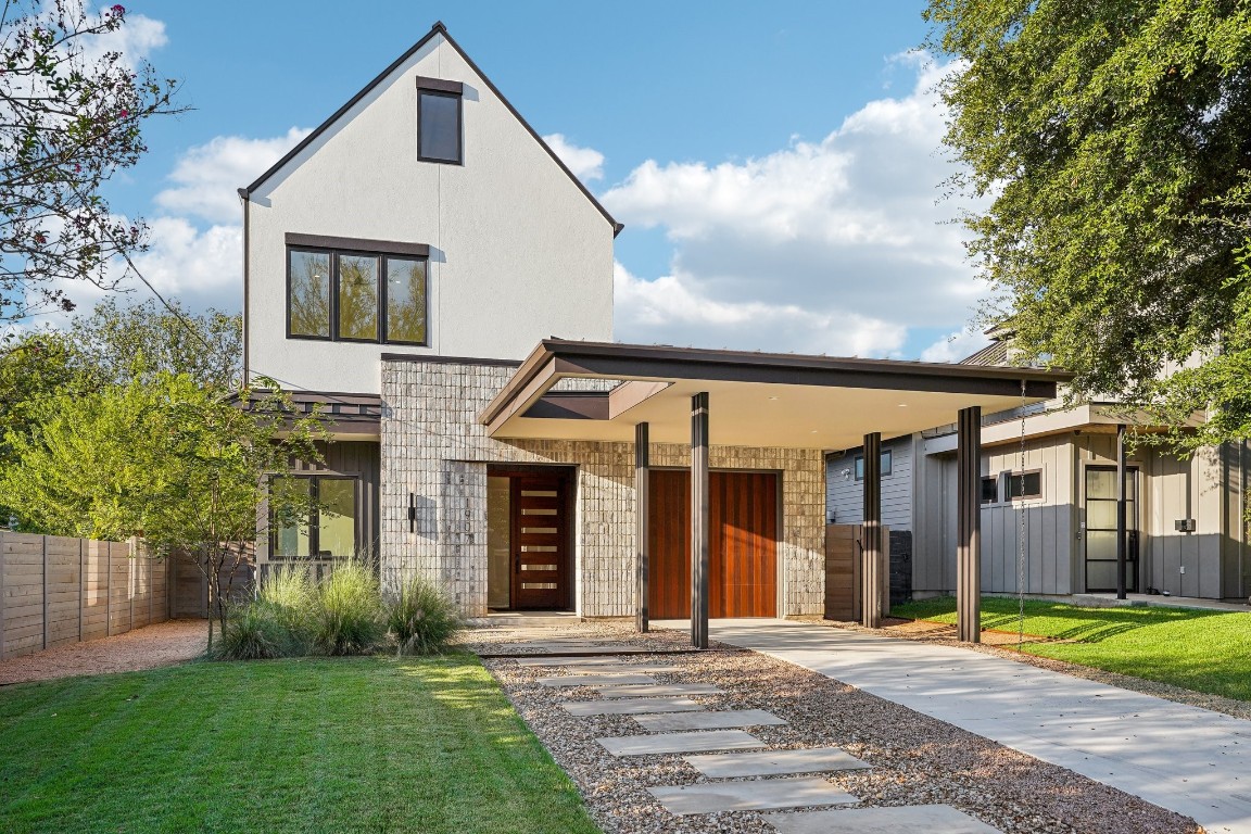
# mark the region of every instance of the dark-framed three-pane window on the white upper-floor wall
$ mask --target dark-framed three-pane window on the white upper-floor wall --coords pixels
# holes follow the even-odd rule
[[[429,346],[429,246],[286,235],[286,338]]]

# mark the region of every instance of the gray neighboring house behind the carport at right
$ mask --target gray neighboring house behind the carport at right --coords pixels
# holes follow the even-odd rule
[[[988,348],[962,364],[1007,365],[1010,334],[995,335]],[[985,415],[983,591],[1017,593],[1018,556],[1025,560],[1028,594],[1116,590],[1116,431],[1121,421],[1111,403],[1063,410],[1058,400]],[[950,555],[956,546],[955,426],[894,438],[882,448],[883,454],[893,453],[899,473],[889,486],[883,480],[883,523],[912,533],[912,591],[916,596],[951,593],[956,584]],[[859,518],[862,491],[848,463],[858,454],[852,449],[827,458],[828,513],[838,521]],[[1130,451],[1126,465],[1127,590],[1246,599],[1251,593],[1245,521],[1251,450],[1226,444],[1183,460],[1145,445]]]

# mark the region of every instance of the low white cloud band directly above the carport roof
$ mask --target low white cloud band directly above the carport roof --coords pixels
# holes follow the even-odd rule
[[[879,356],[903,344],[904,328],[794,304],[711,299],[689,275],[646,281],[613,266],[618,338],[699,348]]]

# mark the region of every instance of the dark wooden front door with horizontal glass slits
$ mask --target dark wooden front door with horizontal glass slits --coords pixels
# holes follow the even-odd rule
[[[513,608],[568,606],[568,498],[560,475],[512,478]]]

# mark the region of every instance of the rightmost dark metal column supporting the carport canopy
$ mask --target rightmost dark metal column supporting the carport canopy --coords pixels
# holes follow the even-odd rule
[[[956,630],[982,640],[982,409],[960,410],[956,445]]]

